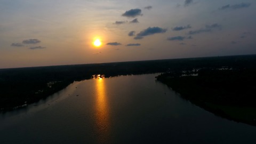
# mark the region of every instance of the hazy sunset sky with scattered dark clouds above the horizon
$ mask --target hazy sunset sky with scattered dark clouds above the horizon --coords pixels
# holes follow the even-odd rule
[[[0,0],[0,68],[256,54],[255,14],[255,0]]]

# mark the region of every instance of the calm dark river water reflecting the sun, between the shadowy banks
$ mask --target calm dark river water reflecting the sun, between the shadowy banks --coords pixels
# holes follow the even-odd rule
[[[255,143],[256,126],[215,116],[155,76],[75,82],[0,115],[0,143]]]

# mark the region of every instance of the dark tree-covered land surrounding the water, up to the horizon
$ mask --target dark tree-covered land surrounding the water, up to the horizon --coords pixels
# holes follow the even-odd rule
[[[237,122],[256,125],[256,55],[0,69],[2,112],[26,107],[74,81],[162,73],[157,80],[195,105]]]

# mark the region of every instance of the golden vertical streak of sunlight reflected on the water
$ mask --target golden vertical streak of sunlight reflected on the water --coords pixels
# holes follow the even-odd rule
[[[109,107],[105,91],[105,83],[103,78],[96,80],[96,124],[97,134],[100,143],[109,141]]]

